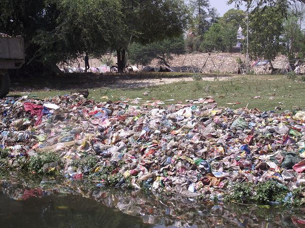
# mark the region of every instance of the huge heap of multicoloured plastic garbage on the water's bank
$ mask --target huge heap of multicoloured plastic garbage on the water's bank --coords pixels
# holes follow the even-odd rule
[[[115,166],[109,175],[121,175],[116,186],[129,179],[137,189],[188,197],[221,199],[242,181],[276,179],[289,189],[305,182],[305,111],[233,110],[210,100],[148,108],[79,94],[6,98],[0,100],[0,148],[9,149],[17,169],[19,156],[55,151],[67,176]],[[89,155],[96,166],[73,166]]]

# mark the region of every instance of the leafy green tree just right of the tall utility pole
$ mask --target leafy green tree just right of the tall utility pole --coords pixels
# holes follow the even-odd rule
[[[256,8],[249,15],[249,56],[251,59],[274,60],[282,45],[280,37],[283,32],[283,11],[288,7],[286,1],[279,1],[278,5]],[[243,31],[247,25],[243,24]],[[245,32],[246,34],[246,32]]]

